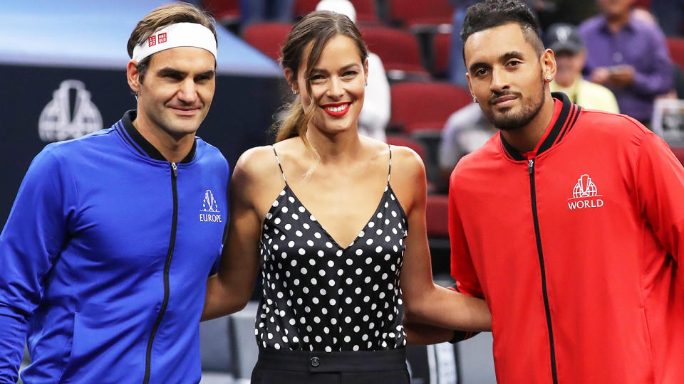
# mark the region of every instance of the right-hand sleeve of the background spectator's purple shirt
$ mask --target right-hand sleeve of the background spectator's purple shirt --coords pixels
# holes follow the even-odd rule
[[[646,72],[634,73],[634,82],[631,86],[638,95],[646,97],[663,95],[673,89],[672,63],[665,35],[660,28],[653,28],[651,40],[651,49],[648,53],[651,57],[651,66]]]

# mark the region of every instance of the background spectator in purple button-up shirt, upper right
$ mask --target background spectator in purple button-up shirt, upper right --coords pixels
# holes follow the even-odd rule
[[[599,0],[603,14],[579,26],[589,80],[610,88],[620,111],[648,124],[653,100],[672,88],[665,36],[632,14],[634,0]]]

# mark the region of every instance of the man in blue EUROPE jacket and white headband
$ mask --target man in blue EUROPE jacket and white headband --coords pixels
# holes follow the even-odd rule
[[[195,137],[216,33],[187,4],[128,41],[138,100],[109,129],[49,144],[0,235],[0,382],[197,383],[199,316],[227,220],[229,167]]]

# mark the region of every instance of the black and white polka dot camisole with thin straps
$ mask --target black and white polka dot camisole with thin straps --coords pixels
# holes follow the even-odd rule
[[[289,351],[403,348],[399,276],[408,220],[390,176],[378,208],[347,247],[333,240],[283,178],[259,241],[257,344]]]

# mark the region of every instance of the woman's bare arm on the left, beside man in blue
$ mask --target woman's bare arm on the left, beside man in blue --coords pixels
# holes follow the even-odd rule
[[[264,188],[265,164],[275,162],[270,147],[250,149],[240,156],[230,181],[228,237],[223,247],[219,273],[207,279],[202,321],[243,309],[254,290],[259,272],[261,219],[255,207],[269,189]],[[277,178],[276,178],[277,180]],[[274,193],[276,196],[277,193]]]

